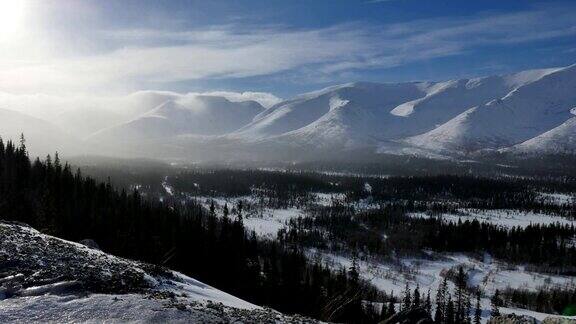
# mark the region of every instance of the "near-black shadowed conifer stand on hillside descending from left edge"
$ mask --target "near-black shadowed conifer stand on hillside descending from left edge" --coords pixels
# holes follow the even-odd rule
[[[82,176],[56,154],[30,161],[24,140],[0,142],[0,215],[67,240],[90,238],[118,256],[170,267],[250,302],[333,321],[371,322],[378,298],[354,269],[332,271],[297,247],[257,239],[241,214],[175,208]]]

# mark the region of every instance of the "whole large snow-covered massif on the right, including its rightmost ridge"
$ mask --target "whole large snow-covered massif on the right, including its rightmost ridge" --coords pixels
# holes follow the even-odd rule
[[[510,124],[514,125],[514,130],[501,137],[505,138],[502,143],[515,144],[522,139],[520,133],[525,132],[521,128],[533,127],[535,134],[539,134],[538,131],[557,126],[566,119],[562,113],[565,104],[574,102],[569,91],[574,80],[570,71],[571,68],[531,70],[445,82],[345,84],[277,104],[229,137],[291,147],[380,147],[380,151],[384,152],[387,149],[382,150],[382,143],[385,143],[385,148],[393,143],[393,151],[396,152],[398,148],[410,147],[428,151],[481,149],[491,147],[483,145],[488,140],[478,139],[477,145],[471,146],[472,141],[456,138],[464,128],[458,123],[476,110],[473,107],[494,105],[502,99],[507,103],[514,102],[517,109],[529,110],[526,113],[518,112],[524,115],[523,121],[514,114],[504,116],[505,113],[500,113],[501,116],[495,116],[504,124],[509,124],[507,119],[514,120]],[[561,84],[562,89],[554,83]],[[552,88],[555,90],[550,91]],[[539,101],[524,98],[530,95],[538,97]],[[554,108],[558,112],[556,117],[550,116],[554,112],[544,107],[551,100],[562,102]],[[537,107],[526,107],[527,102]],[[537,111],[549,116],[547,122],[542,123]],[[539,120],[540,125],[530,125],[532,120]],[[486,137],[498,136],[499,130],[492,129],[495,124],[489,118],[470,121],[470,124],[485,132]],[[405,141],[406,138],[408,140]],[[415,149],[411,152],[415,152]]]

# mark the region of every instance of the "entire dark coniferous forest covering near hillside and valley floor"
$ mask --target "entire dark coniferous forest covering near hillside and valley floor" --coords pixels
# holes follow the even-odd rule
[[[502,210],[573,220],[574,204],[538,194],[574,192],[570,177],[363,177],[155,164],[129,173],[125,167],[87,170],[95,178],[58,154],[31,161],[24,138],[18,145],[0,141],[0,215],[67,240],[93,239],[108,253],[183,272],[258,305],[327,321],[374,323],[420,310],[436,323],[479,323],[481,298],[490,298],[492,315],[509,306],[563,314],[575,301],[572,286],[489,293],[469,285],[461,266],[443,273],[434,291],[407,286],[398,294],[362,279],[356,262],[367,256],[391,264],[425,260],[430,251],[489,254],[529,271],[574,276],[573,224],[506,227],[465,214],[444,219],[462,210]],[[318,192],[332,200],[319,204]],[[215,206],[209,198],[207,205],[195,197],[235,203]],[[266,209],[306,215],[264,237],[244,222]],[[354,261],[330,266],[306,254],[309,249]]]

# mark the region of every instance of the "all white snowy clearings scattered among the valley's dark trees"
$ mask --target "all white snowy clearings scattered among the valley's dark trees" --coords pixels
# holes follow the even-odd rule
[[[316,193],[315,204],[330,206],[333,200],[342,201],[342,194],[322,194]],[[545,196],[546,199],[555,199],[559,203],[566,202],[568,198],[564,196]],[[256,200],[251,197],[242,198],[207,198],[198,199],[206,208],[212,201],[215,202],[216,213],[221,214],[224,204],[234,206],[239,200]],[[358,202],[358,209],[372,208],[370,203]],[[270,209],[264,208],[263,212],[246,215],[243,219],[244,225],[256,232],[261,237],[274,238],[279,229],[287,228],[287,222],[297,217],[306,217],[304,209]],[[221,215],[220,215],[221,216]],[[426,213],[409,214],[411,217],[431,217]],[[446,221],[458,221],[458,219],[477,219],[480,222],[489,222],[504,227],[526,227],[530,224],[566,224],[576,225],[576,221],[560,216],[549,214],[538,214],[521,212],[517,210],[475,210],[461,209],[458,214],[441,215]],[[483,258],[475,258],[466,254],[450,254],[427,252],[429,258],[399,258],[394,262],[381,260],[375,256],[363,255],[358,260],[359,273],[363,279],[371,282],[379,290],[386,293],[393,293],[394,296],[401,296],[406,285],[411,289],[420,288],[420,291],[427,293],[430,291],[432,300],[436,295],[436,290],[441,284],[444,276],[449,271],[457,271],[462,266],[468,276],[470,287],[480,287],[485,295],[482,298],[483,308],[482,321],[486,322],[490,317],[490,296],[496,289],[500,291],[506,288],[526,289],[536,291],[540,288],[563,287],[576,289],[576,277],[561,276],[537,273],[527,270],[523,266],[513,266],[498,260],[494,260],[486,254]],[[352,255],[338,255],[328,251],[308,249],[307,255],[313,260],[322,260],[333,269],[349,269],[353,263]],[[545,313],[538,313],[519,308],[502,308],[502,313],[515,313],[518,315],[528,315],[536,319],[543,320],[546,317],[555,316]],[[568,317],[564,317],[568,318]],[[576,318],[572,318],[575,319]]]

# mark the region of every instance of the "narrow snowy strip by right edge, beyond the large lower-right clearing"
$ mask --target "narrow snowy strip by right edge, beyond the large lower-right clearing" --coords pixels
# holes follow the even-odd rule
[[[561,216],[524,212],[512,209],[479,210],[479,209],[459,209],[457,214],[444,213],[439,216],[431,216],[427,213],[409,213],[410,217],[441,217],[445,221],[457,222],[477,219],[479,222],[487,222],[504,227],[527,227],[529,225],[541,224],[562,224],[576,225],[576,221]]]

